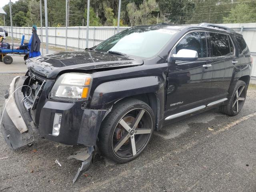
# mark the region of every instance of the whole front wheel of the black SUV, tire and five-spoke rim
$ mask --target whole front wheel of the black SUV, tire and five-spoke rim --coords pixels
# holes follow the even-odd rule
[[[102,122],[98,147],[115,162],[129,162],[146,148],[154,127],[154,112],[148,104],[137,99],[123,100]]]

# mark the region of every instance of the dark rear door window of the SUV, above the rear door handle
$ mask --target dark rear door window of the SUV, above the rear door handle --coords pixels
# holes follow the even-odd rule
[[[230,47],[227,35],[220,33],[210,33],[210,39],[212,44],[213,57],[230,55]]]

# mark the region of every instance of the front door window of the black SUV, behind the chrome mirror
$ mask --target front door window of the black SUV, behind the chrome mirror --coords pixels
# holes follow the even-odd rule
[[[207,44],[205,32],[192,32],[187,34],[176,46],[176,53],[181,49],[195,50],[198,58],[207,57]]]

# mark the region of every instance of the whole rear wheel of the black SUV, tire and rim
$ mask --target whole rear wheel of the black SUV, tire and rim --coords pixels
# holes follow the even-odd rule
[[[246,83],[244,81],[238,80],[232,96],[228,100],[228,104],[220,106],[221,112],[229,116],[237,115],[244,106],[246,92]]]

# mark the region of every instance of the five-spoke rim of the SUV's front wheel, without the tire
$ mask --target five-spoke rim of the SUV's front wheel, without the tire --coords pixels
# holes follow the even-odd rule
[[[143,108],[128,111],[116,124],[112,133],[112,150],[124,160],[137,156],[144,150],[152,134],[152,117]]]

